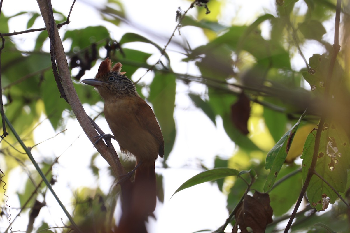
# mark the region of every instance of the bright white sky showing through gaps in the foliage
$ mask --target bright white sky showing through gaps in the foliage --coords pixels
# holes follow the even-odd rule
[[[111,23],[104,22],[100,19],[99,14],[96,12],[93,6],[103,6],[106,1],[80,1],[77,0],[73,12],[71,13],[71,23],[61,28],[61,33],[66,29],[84,28],[86,26],[104,25],[112,33],[114,39],[119,40],[126,32],[136,32],[145,37],[148,37],[152,41],[157,42],[163,47],[170,35],[172,34],[176,22],[175,15],[178,7],[186,10],[190,2],[181,0],[162,1],[162,0],[149,0],[149,1],[123,1],[126,15],[128,19],[133,22],[134,25],[139,26],[139,29],[134,29],[125,24],[121,24],[120,27],[113,26]],[[254,4],[253,4],[254,2]],[[258,16],[264,13],[274,13],[274,0],[260,0],[253,1],[247,4],[245,0],[228,0],[225,8],[223,9],[223,15],[221,23],[230,25],[233,20],[235,23],[251,23],[254,20],[254,16]],[[68,14],[72,1],[68,0],[53,0],[52,4],[54,9]],[[299,4],[303,4],[303,1],[299,1]],[[15,6],[15,7],[14,7]],[[270,9],[270,10],[269,10]],[[36,1],[27,0],[11,0],[4,1],[2,6],[2,13],[6,16],[13,15],[21,11],[38,11]],[[192,9],[190,14],[195,14],[196,10]],[[26,22],[28,16],[20,16],[10,21],[10,32],[21,31],[26,29]],[[42,19],[36,20],[33,28],[41,28],[43,26]],[[268,27],[268,24],[264,24],[264,27]],[[149,33],[151,32],[151,33]],[[152,36],[152,34],[156,36]],[[63,35],[63,34],[62,34]],[[181,29],[181,35],[175,33],[173,40],[182,42],[183,38],[186,38],[191,48],[196,48],[201,44],[207,43],[207,39],[203,36],[200,29],[194,27],[184,27]],[[21,43],[21,49],[26,50],[33,48],[35,38],[37,34],[23,34],[14,36],[17,42]],[[64,43],[69,46],[69,43]],[[135,48],[135,44],[130,44]],[[146,52],[155,53],[149,59],[149,64],[154,64],[159,58],[159,52],[152,46],[146,46],[145,44],[138,45],[138,48],[145,49]],[[67,50],[69,47],[66,47]],[[44,50],[49,50],[49,43],[46,44]],[[186,63],[181,63],[183,58],[181,54],[176,51],[180,51],[179,47],[170,44],[168,47],[168,54],[172,61],[172,68],[175,72],[191,74],[198,74],[198,71],[194,67],[188,67]],[[312,50],[310,54],[305,54],[308,58],[315,52]],[[322,53],[322,51],[320,51]],[[310,55],[310,56],[309,56]],[[6,56],[4,53],[3,56]],[[300,57],[296,56],[296,60],[300,60]],[[117,61],[114,61],[114,63]],[[299,63],[300,64],[300,63]],[[302,63],[301,63],[302,64]],[[293,64],[294,67],[300,68],[298,63]],[[302,66],[302,65],[301,65]],[[93,78],[97,72],[98,65],[93,67],[90,72],[87,72],[83,79]],[[127,72],[127,71],[126,71]],[[137,80],[144,74],[144,70],[139,70],[133,77],[133,80]],[[149,82],[152,80],[152,74],[149,73],[142,81]],[[187,190],[177,193],[171,200],[170,197],[174,191],[190,177],[198,174],[202,171],[200,168],[200,160],[207,167],[214,166],[215,155],[220,155],[223,158],[229,158],[235,151],[235,145],[226,136],[223,130],[222,122],[220,118],[217,118],[217,128],[205,116],[200,110],[196,109],[191,103],[187,94],[189,91],[203,93],[204,87],[199,84],[193,84],[187,86],[182,82],[177,82],[176,87],[176,108],[174,118],[177,127],[176,141],[172,153],[168,159],[169,169],[161,168],[161,161],[156,163],[156,172],[163,174],[163,182],[165,188],[165,202],[164,204],[158,204],[155,211],[157,221],[150,221],[149,229],[151,233],[160,232],[195,232],[202,229],[216,230],[221,226],[226,218],[228,212],[226,210],[226,196],[222,192],[218,191],[215,185],[204,183]],[[91,92],[94,92],[91,88]],[[63,100],[59,100],[63,101]],[[94,115],[96,112],[89,109],[88,105],[84,105],[88,114]],[[102,107],[102,104],[99,105]],[[94,106],[93,109],[99,109]],[[42,117],[44,119],[44,116]],[[97,120],[97,124],[106,132],[110,132],[107,123],[103,118]],[[97,181],[92,176],[89,169],[90,158],[96,150],[93,149],[92,144],[83,133],[80,125],[77,121],[68,119],[66,125],[67,131],[64,134],[59,134],[56,138],[50,139],[41,145],[37,146],[39,152],[34,152],[34,156],[37,160],[41,160],[42,155],[47,158],[59,156],[59,164],[53,169],[53,173],[57,175],[57,183],[53,186],[54,190],[61,201],[71,211],[71,203],[73,201],[72,194],[77,187],[96,187],[97,184],[101,185],[103,191],[107,192],[111,185],[111,179],[108,179],[107,162],[100,156],[97,161],[97,166],[100,170],[100,179]],[[35,131],[36,142],[43,141],[47,138],[54,136],[57,132],[54,132],[48,120],[45,120]],[[70,146],[72,145],[72,146]],[[114,143],[118,150],[118,144]],[[31,145],[27,145],[31,146]],[[10,196],[8,205],[11,207],[19,207],[16,191],[19,187],[23,187],[23,182],[26,180],[26,174],[21,172],[18,168],[11,174],[6,174],[11,178],[7,183],[8,189],[7,195]],[[102,182],[105,180],[104,182]],[[22,182],[21,182],[22,181]],[[66,219],[64,213],[59,208],[56,201],[53,199],[50,193],[47,194],[46,202],[47,207],[42,208],[40,215],[34,226],[38,226],[37,223],[41,222],[40,218],[45,216],[44,219],[50,226],[62,226],[61,218]],[[16,215],[16,210],[12,209],[12,216]],[[5,221],[4,221],[5,220]],[[66,221],[65,221],[66,222]],[[16,219],[12,225],[13,231],[25,231],[28,224],[26,214]],[[6,219],[0,219],[0,232],[3,227],[7,227]]]

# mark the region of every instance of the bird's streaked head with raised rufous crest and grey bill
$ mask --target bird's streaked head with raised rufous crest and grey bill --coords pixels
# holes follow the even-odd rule
[[[134,82],[124,75],[126,72],[120,72],[122,66],[118,62],[112,67],[112,61],[106,58],[98,68],[96,77],[84,79],[82,82],[94,86],[105,101],[139,96]]]

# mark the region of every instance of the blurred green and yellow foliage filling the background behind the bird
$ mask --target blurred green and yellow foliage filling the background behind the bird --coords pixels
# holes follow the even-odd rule
[[[274,232],[283,228],[283,225],[281,227],[278,224],[288,218],[288,211],[294,206],[299,196],[302,187],[302,165],[299,157],[308,134],[316,127],[320,117],[322,104],[319,99],[322,98],[323,86],[315,81],[315,77],[311,77],[308,71],[310,67],[318,69],[317,71],[324,70],[324,65],[327,66],[329,63],[329,61],[324,61],[324,64],[315,65],[312,59],[310,61],[309,58],[303,57],[302,51],[311,41],[321,46],[324,51],[322,56],[330,57],[332,54],[332,42],[324,38],[327,32],[324,25],[333,22],[335,1],[299,1],[305,3],[307,10],[300,11],[300,8],[295,5],[297,0],[286,0],[282,1],[283,3],[276,1],[275,9],[271,10],[271,14],[252,16],[255,19],[250,25],[223,25],[218,19],[220,19],[221,10],[225,7],[225,1],[210,0],[207,4],[210,14],[205,14],[207,9],[204,7],[197,6],[191,9],[196,13],[191,16],[185,15],[179,21],[177,29],[181,32],[181,29],[185,27],[200,28],[207,37],[208,43],[197,48],[191,48],[186,43],[179,45],[182,46],[181,53],[185,56],[183,61],[197,67],[200,75],[191,75],[186,71],[174,72],[173,63],[170,63],[171,59],[166,53],[160,58],[158,64],[150,63],[148,60],[152,56],[151,53],[142,51],[138,49],[139,47],[132,49],[133,43],[142,42],[153,45],[155,54],[161,52],[163,45],[158,45],[146,38],[147,35],[127,32],[120,41],[115,41],[110,31],[104,26],[65,30],[64,25],[60,33],[62,40],[69,41],[71,44],[70,48],[65,49],[70,68],[73,70],[72,80],[83,104],[96,105],[101,101],[90,86],[80,84],[79,80],[85,71],[95,65],[98,66],[102,59],[109,57],[114,62],[121,62],[123,71],[127,72],[128,77],[132,77],[139,68],[151,69],[150,72],[154,74],[152,82],[145,83],[140,79],[137,82],[137,88],[140,95],[152,104],[160,123],[165,139],[164,167],[168,166],[167,159],[176,139],[174,108],[176,107],[176,85],[179,82],[189,86],[189,98],[214,124],[218,124],[216,121],[218,116],[222,119],[227,135],[237,146],[232,155],[229,155],[229,159],[222,159],[213,154],[215,167],[231,167],[237,170],[254,169],[258,178],[251,188],[260,192],[263,191],[268,175],[268,170],[265,169],[267,152],[308,108],[308,114],[296,131],[276,182],[285,175],[294,175],[282,180],[278,186],[268,191],[274,222],[268,225],[266,232]],[[337,58],[336,75],[342,83],[341,94],[339,94],[341,97],[338,99],[339,106],[348,107],[349,105],[346,104],[349,100],[349,49],[346,43],[348,43],[350,28],[348,27],[349,3],[343,3],[345,6],[342,8],[342,49]],[[188,5],[190,4],[188,2]],[[246,4],[253,3],[247,2]],[[96,10],[105,21],[116,26],[127,21],[123,4],[118,0],[109,0],[105,6]],[[31,15],[27,22],[28,29],[36,20],[41,20],[40,14],[33,12],[20,12],[12,16],[1,14],[0,32],[9,32],[8,21],[22,14]],[[169,14],[175,15],[175,12],[169,12]],[[183,10],[179,10],[178,14],[180,17],[177,20],[180,20]],[[66,15],[55,11],[55,18],[57,23],[63,23]],[[268,34],[262,35],[263,24],[268,25]],[[63,118],[63,112],[68,112],[64,114],[66,117],[74,118],[74,115],[70,112],[69,105],[59,98],[50,68],[50,54],[42,49],[48,41],[47,32],[38,33],[34,49],[26,51],[18,49],[12,40],[13,37],[15,35],[6,36],[5,48],[1,54],[4,110],[26,145],[35,145],[33,130],[36,125],[40,124],[42,115],[49,119],[57,132],[65,128],[66,121]],[[315,51],[315,53],[319,52]],[[303,69],[297,69],[292,65],[292,60],[296,58],[304,63]],[[325,75],[322,71],[319,73]],[[320,77],[317,78],[320,79]],[[198,93],[192,90],[190,88],[192,82],[205,85],[206,92]],[[311,91],[312,89],[314,92]],[[345,119],[348,112],[341,111],[340,115]],[[344,123],[343,127],[342,135],[348,137],[349,124]],[[94,165],[96,156],[94,155],[91,159],[91,169],[98,177],[99,170]],[[23,170],[28,173],[25,187],[18,191],[18,196],[22,208],[27,202],[26,208],[33,209],[37,196],[45,196],[47,189],[44,185],[39,185],[40,177],[27,168],[27,155],[18,149],[18,142],[11,134],[1,144],[0,161],[0,168],[6,174],[10,174],[18,166],[22,166]],[[48,172],[47,176],[52,184],[55,183],[55,177],[52,177],[50,169],[56,162],[55,158],[38,161],[43,171]],[[130,161],[124,161],[124,164],[129,169],[133,167]],[[349,163],[346,162],[345,171],[348,165]],[[203,168],[206,167],[203,165]],[[346,174],[349,175],[348,172]],[[8,182],[7,179],[8,176],[5,176],[3,180]],[[158,196],[162,201],[161,175],[158,176],[158,181]],[[227,209],[231,212],[244,195],[246,183],[232,177],[217,180],[216,183],[219,190],[227,195]],[[346,183],[345,186],[346,189],[341,192],[344,198],[349,198],[345,196],[349,183]],[[115,185],[111,187],[108,195],[99,188],[81,187],[77,190],[73,203],[73,216],[77,224],[84,226],[84,229],[89,232],[92,232],[91,229],[94,229],[93,232],[108,232],[113,229],[117,221],[113,213],[116,210],[116,195],[119,194],[119,191],[119,187]],[[3,191],[0,192],[2,201],[6,199],[3,195]],[[302,208],[304,211],[297,215],[292,226],[293,232],[315,232],[315,230],[324,232],[323,228],[313,226],[318,222],[328,225],[335,232],[346,232],[349,229],[349,216],[346,214],[345,205],[342,202],[335,202],[334,199],[331,200],[331,203],[335,204],[324,213],[318,213],[316,209],[304,203]],[[6,206],[2,206],[1,216],[6,218],[4,217],[4,213],[7,213]],[[23,210],[29,214],[26,208]],[[95,222],[103,224],[96,228],[93,226]],[[42,227],[36,231],[47,227],[48,225],[43,222]],[[59,229],[45,230],[45,232],[60,231]]]

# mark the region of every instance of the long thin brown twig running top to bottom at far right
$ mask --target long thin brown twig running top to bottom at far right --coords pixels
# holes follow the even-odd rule
[[[329,64],[327,81],[326,81],[326,86],[325,86],[325,90],[324,90],[324,101],[325,102],[329,99],[329,91],[330,91],[330,86],[331,86],[331,81],[332,81],[333,68],[334,68],[334,64],[335,64],[335,61],[337,59],[337,55],[338,55],[338,52],[340,49],[340,46],[339,46],[339,27],[340,27],[341,2],[342,2],[341,0],[337,0],[337,6],[336,6],[336,12],[335,12],[334,44],[333,44],[334,50],[333,50],[332,58],[331,58],[330,64]],[[313,154],[313,158],[311,161],[311,165],[310,165],[308,174],[306,176],[304,185],[301,189],[299,198],[295,204],[294,210],[292,212],[292,215],[290,216],[290,219],[288,221],[288,224],[286,226],[284,233],[287,233],[289,231],[290,226],[292,225],[292,222],[295,218],[296,211],[299,209],[299,206],[300,206],[301,201],[304,197],[306,189],[309,186],[309,183],[311,181],[311,177],[315,174],[318,149],[320,147],[321,133],[322,133],[322,129],[323,129],[323,125],[324,125],[326,116],[327,116],[327,109],[324,108],[321,119],[320,119],[320,123],[318,124],[318,130],[317,130],[316,138],[315,138],[314,154]]]

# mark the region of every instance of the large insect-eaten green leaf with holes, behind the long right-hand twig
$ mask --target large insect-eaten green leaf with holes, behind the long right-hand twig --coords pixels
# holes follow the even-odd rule
[[[320,129],[317,129],[320,130]],[[313,158],[315,137],[317,130],[311,131],[304,145],[302,176],[305,182]],[[320,148],[318,150],[315,171],[325,181],[330,183],[338,192],[344,192],[347,183],[347,168],[349,168],[349,139],[343,127],[325,123],[321,133]],[[326,198],[334,204],[337,199],[335,192],[319,177],[314,175],[306,191],[309,203],[316,210],[327,209]]]

